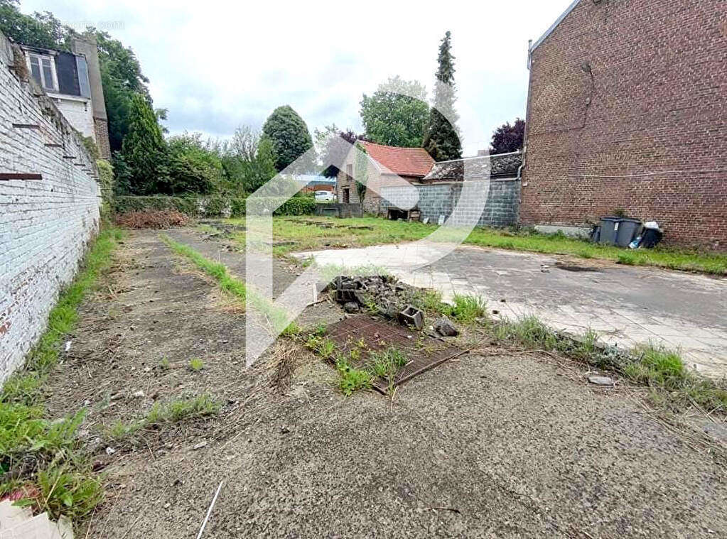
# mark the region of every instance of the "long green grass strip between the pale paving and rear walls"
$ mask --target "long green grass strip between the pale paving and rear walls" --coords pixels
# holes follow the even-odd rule
[[[244,219],[229,219],[244,224]],[[380,243],[400,243],[425,238],[436,229],[434,224],[390,221],[377,217],[336,219],[334,217],[274,217],[273,238],[294,241],[276,246],[279,256],[291,251],[321,248],[364,247]],[[244,234],[234,239],[244,245]],[[656,266],[727,275],[727,254],[690,249],[657,247],[627,251],[614,246],[590,243],[563,234],[539,234],[533,230],[475,228],[465,240],[475,246],[497,247],[543,254],[567,254],[584,259],[604,259],[622,264]]]

